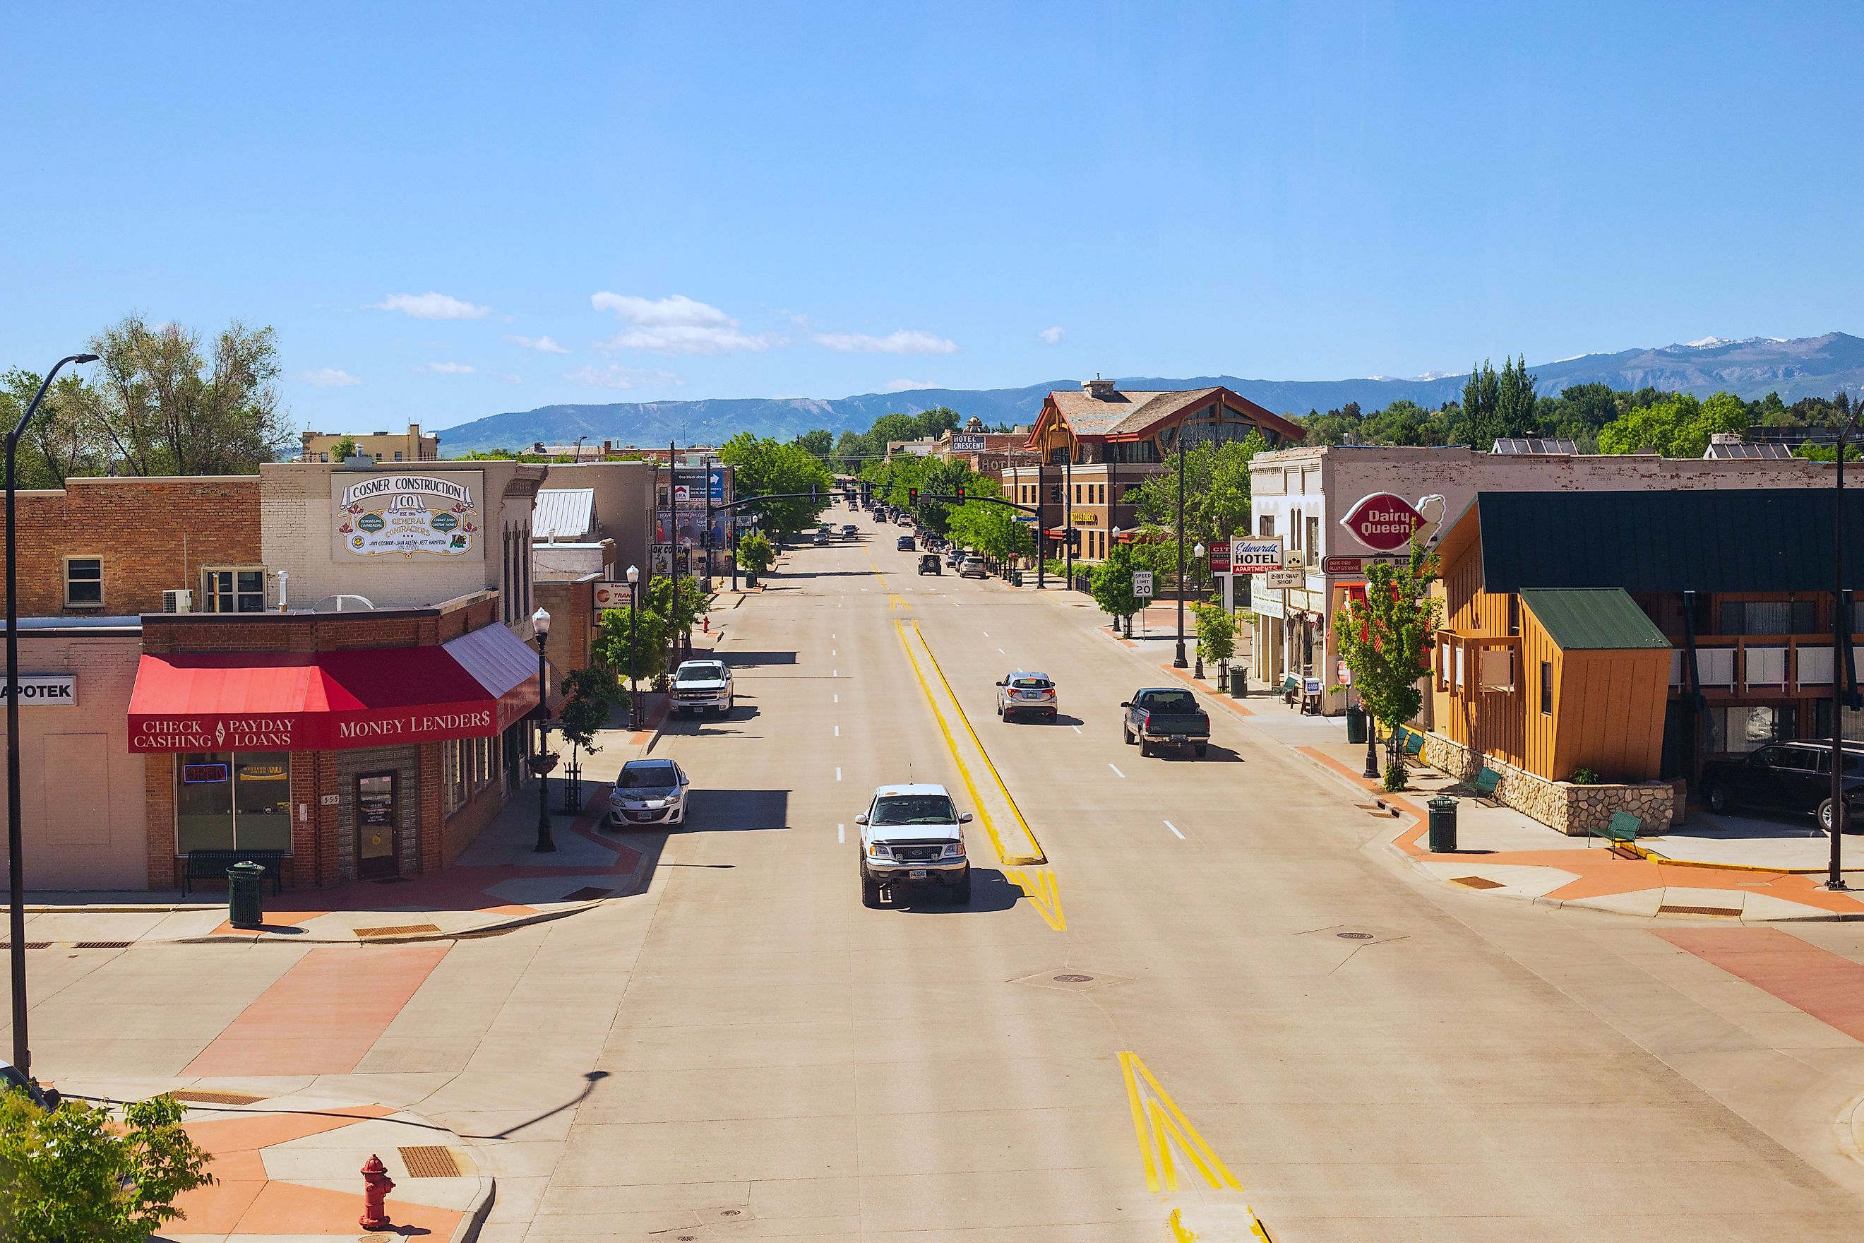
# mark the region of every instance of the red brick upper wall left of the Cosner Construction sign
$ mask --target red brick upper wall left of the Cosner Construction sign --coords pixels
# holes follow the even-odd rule
[[[104,563],[103,608],[65,608],[65,557],[80,555]],[[22,617],[160,611],[164,591],[201,591],[205,565],[259,563],[257,475],[73,479],[19,494]]]

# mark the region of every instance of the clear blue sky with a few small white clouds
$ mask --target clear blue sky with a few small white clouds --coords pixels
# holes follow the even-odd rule
[[[1864,332],[1864,6],[32,6],[0,365],[298,425]],[[561,350],[561,352],[559,352]]]

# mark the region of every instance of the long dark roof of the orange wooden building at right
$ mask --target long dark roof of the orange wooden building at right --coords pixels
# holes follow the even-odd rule
[[[1478,492],[1482,585],[1830,591],[1832,488]],[[1864,587],[1864,496],[1845,498],[1845,587]]]

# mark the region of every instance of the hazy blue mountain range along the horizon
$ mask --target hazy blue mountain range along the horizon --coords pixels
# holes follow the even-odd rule
[[[1497,358],[1497,362],[1501,362]],[[1663,388],[1707,397],[1719,389],[1741,397],[1780,393],[1786,403],[1801,397],[1830,397],[1838,389],[1864,388],[1864,339],[1843,332],[1823,337],[1715,337],[1689,345],[1584,354],[1528,367],[1540,378],[1542,393],[1558,393],[1573,384],[1607,384],[1618,389]],[[1029,423],[1051,388],[1074,388],[1079,380],[1049,380],[1029,388],[923,388],[904,393],[861,393],[859,397],[742,397],[714,401],[649,401],[602,406],[539,406],[494,414],[442,429],[440,449],[453,457],[473,449],[518,449],[533,442],[570,444],[578,436],[615,440],[630,445],[718,444],[736,432],[790,438],[816,427],[831,432],[867,430],[882,414],[917,414],[932,406],[951,406],[984,423]],[[1238,376],[1122,376],[1120,388],[1171,389],[1225,384],[1277,414],[1331,410],[1357,401],[1363,410],[1381,410],[1398,399],[1420,406],[1439,406],[1461,397],[1463,376],[1420,376],[1394,380],[1243,380]]]

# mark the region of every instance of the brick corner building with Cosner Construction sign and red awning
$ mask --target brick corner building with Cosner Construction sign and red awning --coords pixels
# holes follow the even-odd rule
[[[21,496],[32,889],[449,865],[528,781],[541,466],[267,464]],[[30,535],[28,535],[30,533]]]

